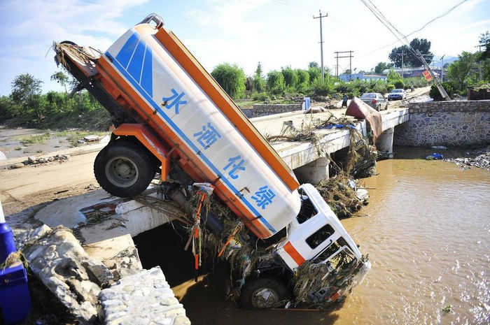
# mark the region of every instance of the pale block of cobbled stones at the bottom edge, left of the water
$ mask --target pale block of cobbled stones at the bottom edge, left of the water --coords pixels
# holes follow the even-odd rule
[[[159,266],[124,277],[99,299],[106,325],[190,325]]]

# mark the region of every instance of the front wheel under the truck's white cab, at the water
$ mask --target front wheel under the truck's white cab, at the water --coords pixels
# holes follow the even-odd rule
[[[245,309],[265,309],[282,305],[288,297],[283,282],[274,277],[248,280],[241,289],[240,305]]]

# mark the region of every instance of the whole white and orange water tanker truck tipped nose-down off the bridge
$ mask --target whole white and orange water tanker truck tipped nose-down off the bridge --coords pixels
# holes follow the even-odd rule
[[[244,308],[325,305],[362,282],[370,262],[335,213],[314,186],[299,184],[160,16],[148,15],[106,52],[71,41],[54,48],[80,82],[74,91],[90,92],[116,128],[94,161],[103,189],[135,196],[158,173],[171,194],[204,183],[239,220],[223,256],[238,250],[248,261],[235,291]],[[223,235],[225,220],[206,216],[204,226]]]

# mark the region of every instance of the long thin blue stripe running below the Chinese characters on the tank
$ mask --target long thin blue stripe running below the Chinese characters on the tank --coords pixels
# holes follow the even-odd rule
[[[129,43],[129,41],[128,41]],[[148,47],[149,48],[149,47]],[[109,57],[109,62],[112,62],[112,64],[114,66],[116,66],[116,68],[118,69],[118,71],[123,74],[125,76],[125,78],[127,80],[130,81],[131,85],[137,89],[137,91],[144,96],[144,99],[146,99],[146,101],[148,101],[148,103],[151,104],[151,106],[153,106],[153,109],[155,109],[156,111],[158,111],[158,113],[160,113],[160,115],[165,119],[165,121],[167,122],[167,124],[169,124],[170,127],[172,127],[172,129],[174,129],[174,131],[176,131],[176,133],[179,134],[179,136],[181,136],[181,138],[183,138],[183,140],[186,141],[187,145],[192,148],[192,150],[194,152],[200,152],[198,155],[199,157],[201,157],[201,159],[209,166],[209,168],[211,168],[212,171],[214,171],[214,173],[216,173],[222,182],[225,183],[225,185],[227,185],[230,189],[232,189],[232,192],[234,192],[235,194],[239,194],[239,191],[238,189],[235,188],[235,186],[232,185],[232,183],[225,178],[225,175],[223,175],[223,173],[221,173],[221,171],[216,168],[216,166],[214,166],[213,163],[211,163],[211,161],[204,155],[203,152],[201,152],[197,147],[196,145],[194,145],[194,143],[192,143],[192,141],[186,136],[185,133],[183,133],[183,131],[181,129],[179,129],[179,127],[177,127],[177,125],[174,123],[174,121],[172,121],[172,119],[167,115],[165,114],[164,110],[162,110],[162,108],[160,108],[160,106],[158,106],[157,103],[155,103],[155,101],[153,100],[152,96],[150,94],[148,94],[148,92],[145,91],[145,89],[143,89],[143,87],[141,87],[141,85],[139,85],[139,82],[137,82],[137,80],[135,80],[133,78],[132,75],[130,75],[130,73],[127,72],[127,70],[125,69],[125,67],[123,67],[119,62],[118,62],[118,57],[119,55],[116,57],[116,59],[111,55],[111,53],[109,52],[106,52],[106,57]],[[141,80],[141,83],[145,82],[144,80]],[[274,227],[269,224],[269,222],[267,222],[267,220],[262,217],[262,215],[260,215],[260,213],[253,207],[253,205],[251,205],[250,202],[248,202],[248,200],[246,200],[246,198],[244,198],[244,196],[242,195],[239,195],[239,198],[241,199],[241,201],[243,201],[243,203],[253,212],[253,214],[255,215],[255,217],[258,218],[259,222],[262,222],[262,224],[264,224],[267,229],[269,229],[269,231],[271,231],[273,234],[276,233],[276,229],[274,229]]]

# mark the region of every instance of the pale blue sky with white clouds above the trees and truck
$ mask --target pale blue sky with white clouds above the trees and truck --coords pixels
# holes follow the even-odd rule
[[[461,0],[370,0],[402,34],[410,34]],[[360,0],[1,0],[0,96],[11,92],[16,75],[43,81],[43,92],[62,91],[50,80],[59,71],[53,41],[73,41],[106,50],[148,13],[157,13],[211,72],[228,62],[253,75],[283,66],[307,68],[323,60],[335,73],[336,51],[353,51],[352,69],[370,71],[402,45]],[[475,52],[479,35],[490,30],[490,0],[467,0],[412,38],[427,38],[437,56]],[[349,59],[339,59],[339,71]]]

